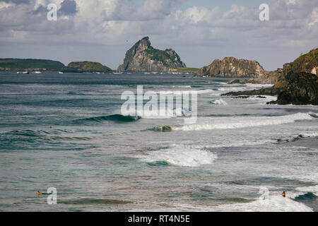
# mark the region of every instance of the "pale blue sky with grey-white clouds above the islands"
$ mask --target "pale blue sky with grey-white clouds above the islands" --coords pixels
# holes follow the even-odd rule
[[[57,20],[47,20],[56,4]],[[259,20],[261,4],[269,20]],[[317,0],[0,0],[0,58],[98,61],[112,69],[141,38],[188,67],[257,60],[271,71],[318,47]]]

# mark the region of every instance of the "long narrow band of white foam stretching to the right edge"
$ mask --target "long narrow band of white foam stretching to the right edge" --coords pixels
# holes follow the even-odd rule
[[[307,113],[290,114],[279,117],[214,117],[201,118],[202,122],[184,126],[172,126],[173,130],[199,131],[212,129],[237,129],[254,126],[269,126],[293,123],[297,120],[314,119]]]

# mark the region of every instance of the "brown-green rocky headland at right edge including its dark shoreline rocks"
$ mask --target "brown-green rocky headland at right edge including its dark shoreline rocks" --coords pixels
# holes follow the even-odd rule
[[[271,71],[271,76],[260,76],[257,81],[276,81],[271,88],[230,92],[223,95],[277,95],[276,101],[268,104],[278,105],[318,105],[318,49],[312,49],[307,54],[284,64],[283,69]],[[262,80],[264,79],[264,80]]]

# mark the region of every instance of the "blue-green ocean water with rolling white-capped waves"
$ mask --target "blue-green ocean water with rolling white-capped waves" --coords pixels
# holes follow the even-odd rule
[[[0,211],[317,211],[318,108],[221,96],[270,87],[231,80],[1,72]],[[197,91],[196,123],[122,115],[137,85]]]

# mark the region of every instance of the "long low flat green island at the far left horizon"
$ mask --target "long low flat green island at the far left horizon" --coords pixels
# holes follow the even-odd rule
[[[0,59],[0,71],[59,71],[62,67],[64,64],[61,62],[48,59]]]

